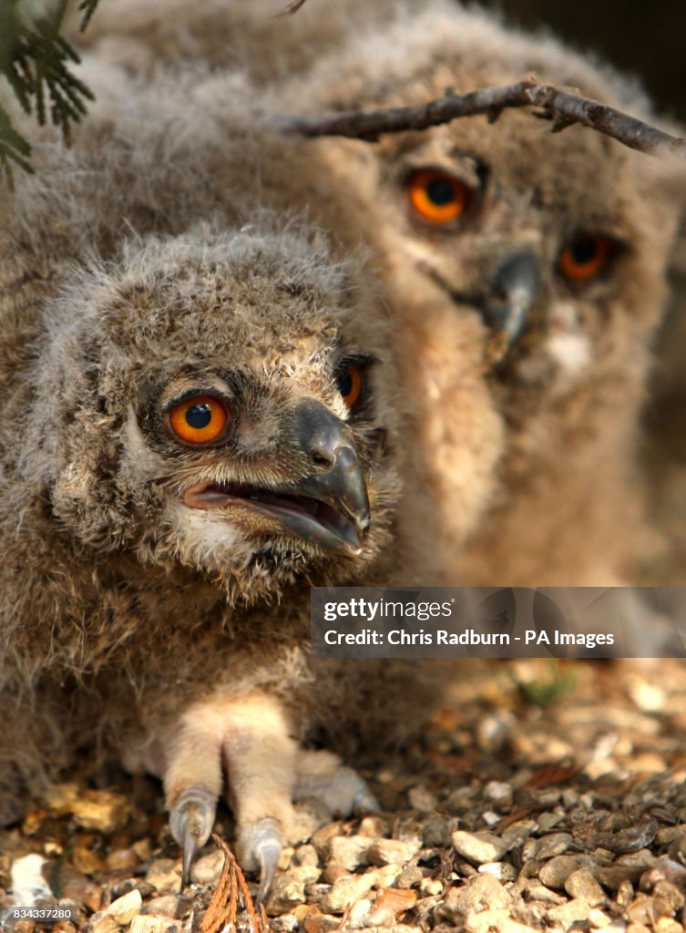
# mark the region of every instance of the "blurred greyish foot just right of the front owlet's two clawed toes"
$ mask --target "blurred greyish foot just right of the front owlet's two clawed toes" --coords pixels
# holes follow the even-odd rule
[[[356,809],[380,809],[365,779],[331,752],[301,751],[296,773],[294,801],[314,797],[335,816],[349,816]]]

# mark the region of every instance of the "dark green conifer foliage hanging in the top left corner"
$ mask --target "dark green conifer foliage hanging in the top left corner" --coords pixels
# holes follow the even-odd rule
[[[81,0],[85,28],[98,0]],[[42,5],[26,0],[0,2],[0,75],[23,110],[43,124],[49,119],[68,143],[72,127],[86,112],[91,90],[73,74],[76,51],[61,35],[67,0]],[[11,179],[13,165],[31,171],[31,146],[15,130],[0,104],[0,174]]]

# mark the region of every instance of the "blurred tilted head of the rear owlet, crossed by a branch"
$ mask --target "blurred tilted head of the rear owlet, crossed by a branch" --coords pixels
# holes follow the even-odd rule
[[[485,11],[409,0],[377,29],[352,34],[295,79],[291,108],[303,100],[315,114],[423,104],[446,89],[534,74],[653,118],[637,88],[592,57]],[[406,309],[416,327],[415,305],[450,309],[465,333],[480,331],[485,367],[498,378],[567,392],[598,361],[623,365],[628,344],[658,321],[677,221],[664,163],[582,127],[551,133],[530,110],[372,145],[315,145],[345,191],[338,229],[346,220],[364,227],[384,258],[397,313]],[[427,313],[427,328],[444,326],[441,312]]]

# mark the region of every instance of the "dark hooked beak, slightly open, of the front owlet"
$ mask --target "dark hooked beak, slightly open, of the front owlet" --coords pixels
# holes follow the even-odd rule
[[[370,525],[370,502],[352,431],[314,399],[301,401],[287,428],[288,446],[305,455],[310,472],[270,488],[203,483],[183,496],[189,508],[249,508],[291,535],[330,553],[353,557]]]

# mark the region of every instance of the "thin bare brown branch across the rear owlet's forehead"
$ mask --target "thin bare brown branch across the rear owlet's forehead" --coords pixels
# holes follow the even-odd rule
[[[686,158],[686,139],[658,130],[606,104],[532,79],[466,94],[446,94],[428,104],[410,107],[348,110],[324,118],[289,118],[284,130],[303,136],[348,136],[373,142],[383,132],[426,130],[459,117],[478,114],[494,120],[505,109],[529,106],[540,107],[538,116],[552,121],[553,132],[581,123],[639,152]]]

